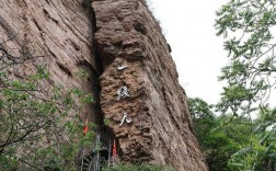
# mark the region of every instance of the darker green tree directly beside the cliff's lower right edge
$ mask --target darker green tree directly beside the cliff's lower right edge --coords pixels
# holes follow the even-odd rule
[[[229,171],[228,160],[239,149],[239,144],[235,140],[242,141],[243,136],[230,135],[232,133],[230,129],[234,127],[228,122],[230,116],[216,116],[212,113],[212,105],[204,100],[189,98],[188,109],[193,118],[195,135],[209,169],[211,171]],[[237,126],[237,128],[240,127]]]

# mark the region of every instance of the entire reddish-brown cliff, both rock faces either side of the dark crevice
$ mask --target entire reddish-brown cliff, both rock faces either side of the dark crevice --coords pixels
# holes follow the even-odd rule
[[[27,43],[45,55],[49,83],[93,93],[99,103],[81,118],[111,121],[123,162],[207,170],[170,46],[143,0],[1,0],[0,35],[15,37],[7,49]]]

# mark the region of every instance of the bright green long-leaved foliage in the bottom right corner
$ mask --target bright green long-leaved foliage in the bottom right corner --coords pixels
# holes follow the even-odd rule
[[[272,170],[276,163],[276,111],[260,107],[258,118],[254,121],[252,133],[246,142],[229,160],[233,170]]]

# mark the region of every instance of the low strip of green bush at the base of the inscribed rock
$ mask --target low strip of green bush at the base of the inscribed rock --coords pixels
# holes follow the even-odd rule
[[[111,168],[105,167],[103,171],[175,171],[175,169],[164,166],[118,164]]]

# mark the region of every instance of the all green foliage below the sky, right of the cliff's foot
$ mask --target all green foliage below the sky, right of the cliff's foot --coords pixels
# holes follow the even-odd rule
[[[196,136],[211,171],[262,170],[275,163],[275,110],[261,107],[258,118],[223,114],[211,105],[189,99]]]

